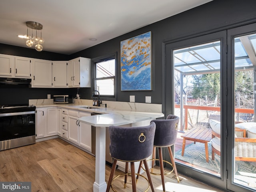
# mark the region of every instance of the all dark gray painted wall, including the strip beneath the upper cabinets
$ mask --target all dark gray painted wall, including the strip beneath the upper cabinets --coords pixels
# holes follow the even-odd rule
[[[116,37],[112,40],[98,44],[91,48],[82,50],[72,55],[62,55],[50,52],[36,52],[29,48],[19,48],[15,46],[8,46],[0,44],[1,54],[11,54],[32,58],[41,58],[48,60],[69,60],[76,57],[96,58],[107,54],[117,52],[117,100],[129,101],[129,95],[135,95],[136,102],[145,102],[145,96],[152,97],[152,103],[161,104],[163,102],[163,89],[162,89],[162,74],[164,63],[163,46],[164,42],[178,41],[193,36],[200,36],[202,34],[208,34],[219,30],[232,28],[235,26],[244,25],[247,23],[256,22],[256,1],[255,0],[214,0],[202,6],[198,6],[186,12],[177,14],[170,18],[166,18],[154,24],[150,24],[138,30],[134,30],[122,36]],[[120,41],[128,38],[140,35],[142,33],[152,32],[152,70],[153,70],[153,90],[152,91],[121,91],[120,90]],[[14,94],[18,93],[18,88],[12,87],[3,88],[0,86],[1,95],[0,99],[3,102],[6,100],[8,91],[12,91]],[[46,95],[50,92],[71,92],[75,95],[76,89],[36,89],[24,88],[22,89],[20,98],[24,100],[29,97],[46,98]],[[20,88],[19,88],[20,91]],[[24,94],[24,93],[28,94]],[[81,88],[79,90],[81,98],[90,99],[90,88]],[[17,98],[17,101],[20,100]]]

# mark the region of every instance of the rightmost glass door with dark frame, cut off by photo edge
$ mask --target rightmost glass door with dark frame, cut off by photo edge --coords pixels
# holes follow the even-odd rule
[[[256,24],[228,30],[230,119],[228,189],[256,191]],[[231,116],[232,115],[232,116]]]

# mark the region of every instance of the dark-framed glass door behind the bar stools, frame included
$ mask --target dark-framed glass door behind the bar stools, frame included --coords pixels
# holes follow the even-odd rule
[[[180,117],[178,170],[224,188],[226,31],[166,44],[165,68],[166,112]]]

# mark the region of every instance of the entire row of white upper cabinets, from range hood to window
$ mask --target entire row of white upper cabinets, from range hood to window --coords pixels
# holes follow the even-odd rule
[[[31,87],[91,87],[91,59],[50,61],[0,54],[0,77],[31,78]]]

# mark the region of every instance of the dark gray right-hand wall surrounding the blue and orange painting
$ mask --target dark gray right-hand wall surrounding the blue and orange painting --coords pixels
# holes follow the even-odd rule
[[[152,103],[162,103],[162,68],[163,45],[167,41],[175,41],[192,36],[198,36],[255,22],[255,0],[214,0],[170,18],[124,34],[102,44],[71,55],[96,58],[98,56],[118,53],[117,62],[117,100],[129,101],[129,95],[135,95],[135,102],[145,102],[145,96],[152,97]],[[121,91],[120,90],[120,41],[152,32],[152,91]]]

